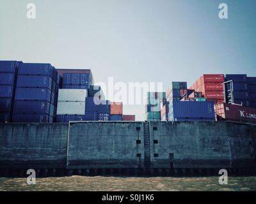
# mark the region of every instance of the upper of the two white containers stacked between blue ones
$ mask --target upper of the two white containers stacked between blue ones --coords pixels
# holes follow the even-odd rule
[[[58,101],[85,101],[86,89],[59,89]]]

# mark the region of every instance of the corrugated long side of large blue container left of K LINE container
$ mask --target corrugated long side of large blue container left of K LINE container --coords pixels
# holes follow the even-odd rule
[[[173,101],[173,118],[215,119],[214,104],[210,101]]]

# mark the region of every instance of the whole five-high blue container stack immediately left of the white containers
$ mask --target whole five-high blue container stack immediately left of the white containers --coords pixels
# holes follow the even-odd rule
[[[54,122],[59,83],[60,77],[51,64],[20,64],[13,122]]]

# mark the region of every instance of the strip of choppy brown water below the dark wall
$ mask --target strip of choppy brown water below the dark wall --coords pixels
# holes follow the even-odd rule
[[[0,191],[256,191],[256,177],[48,177],[28,185],[26,178],[0,178]]]

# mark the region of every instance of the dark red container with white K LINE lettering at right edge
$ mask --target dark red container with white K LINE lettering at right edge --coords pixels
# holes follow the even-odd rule
[[[214,105],[214,110],[218,120],[250,122],[256,124],[256,108],[218,103]]]

